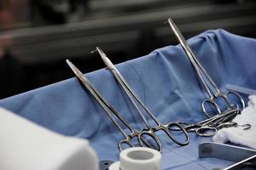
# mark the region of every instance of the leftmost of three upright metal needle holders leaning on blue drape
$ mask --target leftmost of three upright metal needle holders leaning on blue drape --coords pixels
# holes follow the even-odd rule
[[[132,144],[131,142],[131,140],[134,138],[137,138],[137,141],[141,146],[143,146],[143,144],[147,144],[146,141],[142,138],[142,132],[137,132],[136,130],[132,129],[131,126],[128,124],[128,122],[125,122],[125,120],[120,116],[118,111],[115,111],[113,107],[108,104],[107,100],[104,99],[102,94],[100,94],[99,91],[96,90],[96,88],[83,75],[83,73],[79,71],[79,69],[75,65],[73,65],[71,61],[69,61],[68,59],[66,61],[67,61],[67,65],[69,65],[69,67],[72,69],[76,77],[78,77],[79,81],[84,85],[85,88],[88,89],[88,91],[94,97],[94,99],[96,99],[98,104],[102,106],[102,109],[107,113],[108,117],[111,119],[113,124],[124,135],[125,139],[122,139],[121,141],[119,141],[119,144],[118,144],[119,150],[120,151],[122,150],[123,144],[128,144],[129,146],[134,147],[135,145]],[[131,132],[130,134],[125,133],[125,130],[114,119],[112,114],[116,116],[119,119],[119,121],[125,125],[125,127],[127,127],[127,129]],[[157,144],[157,149],[160,148],[160,141],[157,138],[154,138],[154,136],[149,136],[149,137],[151,137],[154,140],[154,142]],[[150,144],[147,144],[147,146],[149,147]]]

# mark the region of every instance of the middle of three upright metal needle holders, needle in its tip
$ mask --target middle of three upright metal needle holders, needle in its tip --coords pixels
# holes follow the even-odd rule
[[[110,59],[108,59],[107,55],[104,54],[104,52],[102,51],[101,48],[96,47],[97,52],[101,55],[103,62],[105,63],[105,65],[107,65],[108,69],[112,72],[113,77],[116,78],[116,80],[119,82],[120,86],[124,89],[125,94],[128,95],[129,99],[131,100],[132,104],[135,106],[135,108],[137,109],[137,112],[139,113],[139,116],[141,116],[141,118],[143,119],[143,122],[146,124],[147,128],[143,129],[143,132],[141,133],[141,135],[143,137],[145,136],[151,136],[154,137],[155,139],[159,139],[158,136],[155,134],[157,131],[163,131],[167,134],[167,136],[174,141],[176,144],[179,145],[186,145],[189,144],[189,135],[186,132],[186,130],[177,122],[169,122],[167,124],[162,124],[160,123],[157,118],[154,116],[153,113],[151,113],[151,111],[149,111],[148,107],[146,105],[143,104],[142,99],[140,99],[137,94],[131,89],[130,85],[128,84],[128,82],[125,81],[125,78],[122,77],[122,75],[119,73],[119,71],[116,69],[116,67],[113,65],[113,63],[110,61]],[[146,117],[143,115],[143,113],[140,111],[139,106],[137,105],[136,101],[134,101],[134,99],[136,99],[136,101],[138,102],[138,104],[140,104],[143,109],[148,113],[148,115],[154,120],[154,122],[156,123],[156,127],[152,127],[148,120],[146,119]],[[177,127],[178,129],[180,129],[183,132],[183,135],[185,136],[185,141],[179,141],[178,139],[176,139],[175,137],[173,137],[172,135],[172,127]],[[147,145],[147,144],[146,144]],[[160,145],[160,150],[161,150],[161,145]]]

